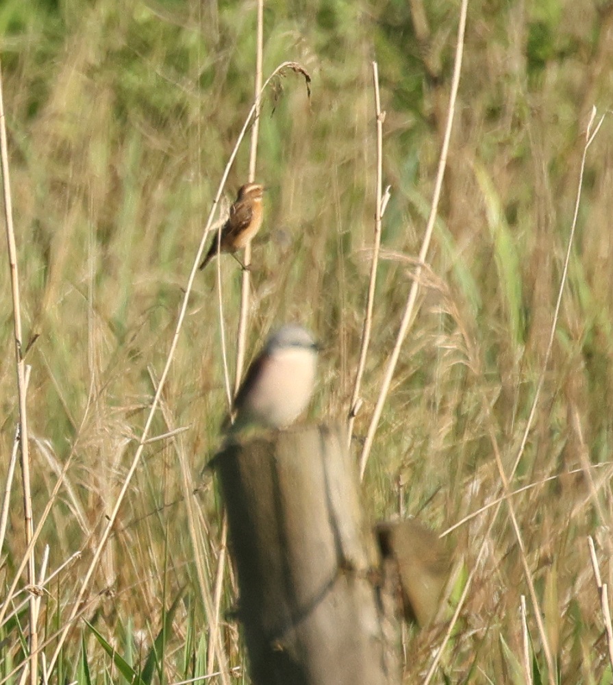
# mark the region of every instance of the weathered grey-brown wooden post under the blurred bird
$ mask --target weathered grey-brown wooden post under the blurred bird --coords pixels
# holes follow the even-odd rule
[[[216,456],[256,685],[397,685],[393,598],[338,427]]]

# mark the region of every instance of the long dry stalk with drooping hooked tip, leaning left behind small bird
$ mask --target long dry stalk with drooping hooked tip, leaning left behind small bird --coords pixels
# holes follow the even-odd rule
[[[262,92],[268,87],[268,84],[275,78],[279,73],[282,73],[283,71],[286,70],[291,70],[296,73],[300,73],[303,75],[305,78],[307,88],[309,88],[309,83],[311,80],[311,77],[306,71],[306,69],[299,64],[298,62],[283,62],[283,64],[280,64],[277,66],[275,71],[266,79],[266,82],[264,82],[264,85],[262,86],[262,90],[260,92],[260,96]],[[255,108],[256,108],[257,103],[253,103],[251,106],[251,110],[249,110],[249,114],[247,114],[247,118],[245,119],[245,124],[242,126],[242,129],[240,131],[240,134],[238,136],[238,139],[236,140],[236,143],[234,145],[234,149],[232,150],[232,153],[229,157],[229,160],[227,162],[227,165],[225,167],[225,170],[223,172],[223,175],[221,177],[221,181],[219,183],[215,199],[212,203],[211,211],[208,216],[207,223],[205,225],[204,233],[202,236],[202,239],[200,241],[200,245],[198,248],[198,251],[195,256],[194,263],[192,264],[192,271],[190,272],[188,282],[185,288],[184,292],[184,297],[183,297],[183,302],[181,309],[179,310],[179,316],[177,317],[177,325],[175,326],[175,333],[173,335],[173,340],[171,342],[170,349],[168,350],[168,355],[166,356],[166,362],[164,364],[164,369],[162,370],[162,373],[160,375],[160,381],[158,384],[158,389],[155,392],[155,395],[153,397],[153,401],[151,401],[151,408],[149,410],[149,414],[147,415],[147,421],[145,421],[145,427],[142,429],[142,433],[140,436],[140,439],[138,440],[138,447],[136,448],[136,452],[134,453],[134,458],[132,459],[132,464],[130,464],[130,467],[127,471],[127,474],[125,476],[123,485],[121,486],[121,490],[119,491],[119,494],[117,496],[117,499],[115,501],[115,505],[113,507],[112,512],[108,516],[107,523],[105,525],[105,528],[102,532],[100,541],[98,543],[98,546],[95,549],[94,555],[92,557],[92,560],[90,562],[90,565],[88,566],[88,569],[83,577],[83,580],[81,582],[81,586],[79,587],[78,592],[76,593],[75,600],[73,601],[73,608],[68,615],[68,618],[66,619],[66,623],[64,625],[64,628],[62,630],[62,633],[60,634],[60,638],[58,640],[58,645],[55,647],[55,652],[53,653],[53,656],[51,657],[51,661],[49,662],[49,671],[53,671],[53,667],[55,666],[55,662],[58,660],[58,657],[60,656],[60,651],[62,650],[62,647],[64,645],[64,642],[66,641],[66,637],[68,636],[68,632],[71,630],[71,627],[77,618],[77,614],[79,614],[79,607],[82,605],[83,598],[85,596],[86,590],[90,584],[90,580],[92,578],[92,575],[97,568],[100,558],[102,556],[102,552],[104,550],[104,547],[106,545],[106,542],[111,534],[112,528],[114,526],[114,523],[117,518],[117,514],[119,512],[119,509],[121,508],[121,504],[123,503],[123,499],[125,498],[125,494],[127,493],[127,489],[129,488],[130,482],[132,482],[132,477],[134,477],[134,473],[136,471],[136,467],[138,466],[140,462],[140,457],[142,456],[142,451],[145,449],[145,441],[147,440],[147,437],[149,436],[149,430],[151,429],[151,423],[153,423],[153,416],[155,416],[155,411],[158,408],[158,405],[160,403],[160,397],[162,396],[162,390],[164,390],[164,385],[166,384],[166,377],[168,377],[168,371],[170,371],[171,365],[173,363],[173,358],[175,356],[175,351],[177,349],[177,345],[179,343],[179,335],[181,334],[182,328],[183,328],[183,322],[187,314],[187,308],[188,308],[188,303],[189,299],[192,293],[192,288],[194,284],[194,280],[196,278],[196,274],[198,273],[198,266],[201,263],[202,260],[202,255],[205,249],[205,245],[208,239],[208,234],[210,232],[210,227],[213,222],[213,216],[216,211],[216,207],[221,199],[221,193],[223,192],[223,188],[225,187],[225,183],[227,181],[227,177],[229,175],[230,169],[232,168],[232,164],[234,164],[234,160],[236,159],[236,155],[238,154],[238,149],[240,147],[240,144],[242,142],[242,139],[245,138],[245,134],[247,133],[247,129],[249,128],[249,124],[251,123],[251,119],[253,118],[253,114],[255,114]],[[223,325],[223,322],[222,322]],[[212,645],[212,649],[218,649],[221,650],[221,645]]]

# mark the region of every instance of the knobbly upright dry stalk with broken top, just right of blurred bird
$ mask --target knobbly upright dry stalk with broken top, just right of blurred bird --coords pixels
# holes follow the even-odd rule
[[[385,199],[383,199],[383,122],[385,112],[381,112],[381,95],[379,93],[379,66],[373,62],[373,84],[375,87],[375,118],[377,122],[377,190],[375,197],[375,240],[373,245],[373,261],[371,262],[371,276],[368,281],[368,298],[366,299],[366,313],[364,314],[364,324],[362,325],[362,343],[360,346],[360,360],[358,371],[355,373],[355,383],[353,384],[353,394],[349,405],[349,422],[347,426],[347,445],[351,446],[351,435],[353,434],[353,423],[355,416],[360,409],[360,386],[362,376],[366,366],[366,356],[368,356],[368,346],[371,343],[371,329],[373,327],[373,309],[375,307],[375,288],[377,286],[377,266],[379,265],[379,249],[381,248],[381,217],[385,212],[390,198],[390,186],[386,188]]]

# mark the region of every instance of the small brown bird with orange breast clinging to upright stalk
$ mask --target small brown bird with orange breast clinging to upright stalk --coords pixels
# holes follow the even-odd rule
[[[234,253],[245,247],[253,236],[260,230],[262,225],[262,195],[264,186],[259,183],[247,183],[240,186],[236,202],[230,208],[230,215],[221,227],[221,242],[215,236],[209,251],[204,258],[200,269],[216,256],[217,251],[231,254],[236,261],[244,267],[244,264],[236,258]]]

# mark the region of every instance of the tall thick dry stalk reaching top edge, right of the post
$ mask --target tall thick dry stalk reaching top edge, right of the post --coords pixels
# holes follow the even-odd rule
[[[455,47],[455,64],[453,66],[453,81],[451,82],[451,95],[449,96],[449,110],[447,111],[447,125],[445,127],[445,136],[442,142],[442,149],[440,151],[440,160],[438,162],[438,173],[436,174],[436,184],[434,185],[434,196],[432,197],[432,205],[430,208],[430,215],[426,225],[425,236],[419,251],[419,266],[416,269],[415,278],[412,283],[409,297],[405,306],[404,314],[396,338],[394,349],[390,355],[390,360],[386,368],[381,390],[379,390],[379,397],[371,424],[368,426],[368,433],[366,440],[364,440],[364,447],[362,448],[362,455],[360,456],[360,478],[364,477],[366,470],[366,462],[368,455],[371,453],[373,442],[375,440],[375,433],[379,427],[379,419],[381,419],[381,412],[390,390],[392,377],[396,370],[396,364],[400,356],[400,350],[407,336],[409,325],[412,323],[415,302],[417,300],[417,292],[419,290],[419,275],[421,274],[422,266],[425,263],[428,249],[430,247],[430,240],[434,232],[434,223],[436,221],[436,212],[438,211],[438,201],[440,199],[440,191],[442,189],[442,179],[445,176],[445,168],[447,166],[447,153],[449,151],[449,140],[451,140],[451,128],[453,126],[453,115],[455,113],[455,101],[458,99],[458,86],[460,85],[460,73],[462,71],[462,55],[464,54],[464,32],[466,30],[466,6],[468,0],[462,0],[462,8],[460,10],[460,25],[458,27],[458,44]]]

